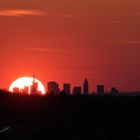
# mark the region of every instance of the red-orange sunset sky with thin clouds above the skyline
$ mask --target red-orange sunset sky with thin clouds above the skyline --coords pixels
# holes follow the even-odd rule
[[[0,0],[0,88],[33,74],[140,90],[140,1]]]

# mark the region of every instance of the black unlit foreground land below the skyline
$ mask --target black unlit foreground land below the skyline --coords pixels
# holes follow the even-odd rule
[[[0,139],[140,139],[140,97],[0,95]]]

